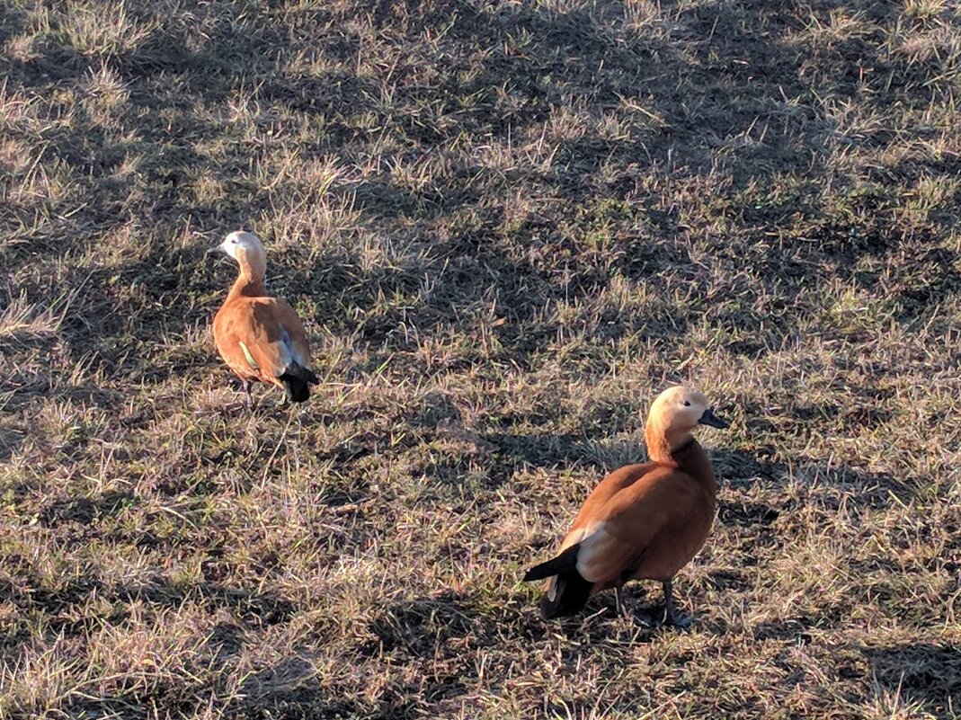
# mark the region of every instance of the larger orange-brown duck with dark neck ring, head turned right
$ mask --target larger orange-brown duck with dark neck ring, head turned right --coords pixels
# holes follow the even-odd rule
[[[545,618],[573,615],[595,593],[647,579],[663,583],[665,621],[690,624],[675,611],[672,580],[707,539],[717,499],[714,469],[693,435],[699,424],[729,427],[693,388],[676,385],[657,396],[645,429],[651,461],[604,478],[559,554],[524,576],[550,578],[540,603]]]

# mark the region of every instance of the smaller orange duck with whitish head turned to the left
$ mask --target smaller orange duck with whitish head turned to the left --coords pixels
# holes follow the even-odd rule
[[[213,318],[217,352],[240,378],[251,407],[253,383],[283,387],[285,401],[303,403],[320,381],[310,367],[304,325],[283,300],[263,287],[267,258],[253,233],[235,232],[209,253],[224,252],[239,268],[234,286]]]

